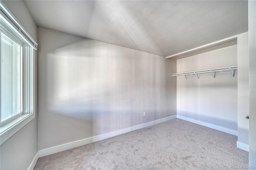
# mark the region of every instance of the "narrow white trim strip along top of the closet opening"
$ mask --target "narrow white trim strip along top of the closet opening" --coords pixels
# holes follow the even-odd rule
[[[206,45],[202,45],[202,46],[200,46],[200,47],[196,47],[196,48],[193,48],[193,49],[189,49],[189,50],[183,51],[183,52],[181,52],[181,53],[176,53],[176,54],[174,54],[174,55],[170,55],[170,56],[165,57],[165,58],[177,57],[177,56],[179,56],[179,55],[183,55],[183,54],[190,53],[190,52],[193,52],[193,51],[197,51],[197,50],[204,49],[204,48],[207,48],[207,47],[212,47],[212,46],[218,45],[218,44],[220,44],[220,43],[229,42],[229,41],[231,41],[231,40],[236,40],[237,37],[238,37],[238,35],[232,36],[232,37],[229,37],[229,38],[225,38],[225,39],[223,39],[223,40],[219,40],[219,41],[216,41],[216,42],[208,43],[208,44],[206,44]]]

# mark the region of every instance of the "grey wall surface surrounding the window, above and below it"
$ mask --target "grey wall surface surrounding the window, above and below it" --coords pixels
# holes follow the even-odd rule
[[[22,26],[37,41],[37,26],[28,12],[23,1],[3,1],[7,8],[14,14]],[[37,51],[36,51],[37,54]],[[37,55],[36,55],[37,56]],[[35,57],[36,59],[37,57]],[[37,63],[37,60],[35,61]],[[35,65],[35,70],[37,70]],[[37,75],[37,71],[35,73]],[[35,76],[37,82],[37,76]],[[37,87],[37,85],[36,85]],[[37,89],[35,89],[37,94]],[[37,95],[36,95],[37,99]],[[35,103],[36,104],[36,103]],[[38,152],[38,122],[37,105],[35,105],[35,118],[6,140],[0,146],[0,169],[20,170],[28,169]]]

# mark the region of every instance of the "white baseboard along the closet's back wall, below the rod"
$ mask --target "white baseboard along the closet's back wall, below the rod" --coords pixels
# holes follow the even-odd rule
[[[217,126],[217,125],[212,125],[210,123],[205,123],[205,122],[202,122],[202,121],[198,121],[198,120],[195,120],[195,119],[190,119],[190,118],[187,118],[187,117],[184,117],[184,116],[180,116],[180,115],[177,115],[177,118],[178,119],[182,119],[184,121],[196,123],[196,124],[202,125],[204,127],[213,128],[215,130],[219,130],[221,132],[225,132],[225,133],[233,134],[233,135],[237,136],[237,131],[236,130],[220,127],[220,126]]]

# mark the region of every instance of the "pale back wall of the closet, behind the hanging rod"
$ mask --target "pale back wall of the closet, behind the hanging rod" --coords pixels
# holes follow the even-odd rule
[[[177,73],[237,65],[237,45],[177,60]],[[238,70],[239,71],[239,70]],[[237,130],[237,74],[177,77],[177,115]]]

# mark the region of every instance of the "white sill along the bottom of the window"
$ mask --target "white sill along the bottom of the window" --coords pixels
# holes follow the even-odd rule
[[[35,118],[35,114],[24,114],[0,127],[0,145]]]

